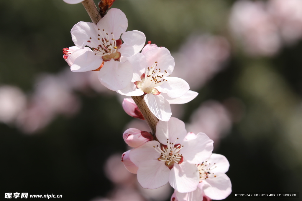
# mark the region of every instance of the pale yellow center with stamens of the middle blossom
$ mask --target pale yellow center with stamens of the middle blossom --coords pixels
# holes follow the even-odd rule
[[[140,77],[142,81],[136,81],[135,85],[137,88],[141,89],[144,93],[152,93],[153,95],[159,95],[160,92],[154,88],[156,86],[162,85],[165,81],[166,70],[161,70],[160,68],[156,68],[157,61],[149,68],[147,68],[146,72]]]

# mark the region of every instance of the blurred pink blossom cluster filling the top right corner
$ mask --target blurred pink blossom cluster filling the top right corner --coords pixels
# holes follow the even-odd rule
[[[302,38],[302,1],[236,1],[230,29],[252,56],[273,56],[283,45]]]

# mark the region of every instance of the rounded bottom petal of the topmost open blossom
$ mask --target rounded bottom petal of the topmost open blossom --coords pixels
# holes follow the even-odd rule
[[[132,65],[129,61],[122,63],[111,59],[104,62],[104,66],[98,74],[98,79],[108,89],[117,91],[126,88],[131,82],[132,76]]]

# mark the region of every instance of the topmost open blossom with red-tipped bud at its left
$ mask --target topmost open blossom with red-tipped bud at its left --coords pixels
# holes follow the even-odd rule
[[[145,35],[140,31],[125,32],[127,27],[125,14],[116,8],[110,9],[97,25],[90,22],[74,25],[71,30],[72,40],[76,47],[83,50],[75,48],[64,52],[65,55],[71,52],[66,58],[67,62],[72,63],[71,71],[97,70],[99,80],[108,89],[124,89],[133,77],[133,70],[127,59],[123,62],[120,59],[140,52],[146,41]],[[123,44],[119,39],[121,34]],[[91,50],[85,49],[85,46]]]

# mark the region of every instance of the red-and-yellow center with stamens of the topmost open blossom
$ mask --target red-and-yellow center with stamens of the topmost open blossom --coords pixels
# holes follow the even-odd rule
[[[107,33],[104,29],[98,29],[98,35],[92,40],[89,38],[87,42],[91,43],[91,49],[95,52],[95,55],[102,57],[103,61],[110,61],[111,58],[118,60],[120,58],[120,52],[117,50],[122,44],[121,40],[115,40],[113,33]]]

